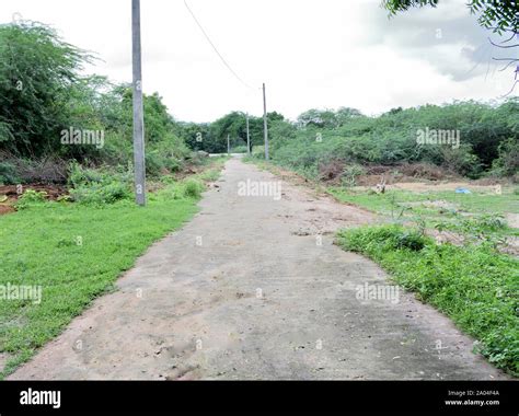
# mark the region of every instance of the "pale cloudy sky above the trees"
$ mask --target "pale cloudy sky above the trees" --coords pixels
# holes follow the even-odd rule
[[[141,0],[146,93],[158,91],[177,119],[210,122],[237,109],[289,118],[308,108],[349,106],[365,114],[507,93],[514,69],[492,62],[464,0],[440,0],[388,19],[380,0]],[[88,72],[131,81],[130,0],[2,0],[15,16],[53,25],[102,59]],[[493,37],[497,41],[496,37]]]

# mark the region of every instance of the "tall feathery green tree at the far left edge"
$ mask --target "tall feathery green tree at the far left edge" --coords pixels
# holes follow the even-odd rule
[[[0,27],[0,149],[39,155],[68,128],[69,96],[92,57],[41,23]]]

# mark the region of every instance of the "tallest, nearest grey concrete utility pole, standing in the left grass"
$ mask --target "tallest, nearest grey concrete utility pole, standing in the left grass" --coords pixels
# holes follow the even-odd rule
[[[140,0],[131,0],[131,47],[134,67],[134,164],[135,200],[146,205],[145,119],[140,48]]]

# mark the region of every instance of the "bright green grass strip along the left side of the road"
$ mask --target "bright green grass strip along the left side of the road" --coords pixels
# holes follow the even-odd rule
[[[215,177],[222,164],[211,163],[208,176]],[[9,357],[0,378],[111,291],[151,243],[192,218],[200,176],[207,175],[149,194],[146,207],[132,200],[105,206],[38,201],[0,217],[0,286],[42,286],[39,304],[0,299],[0,353]]]

